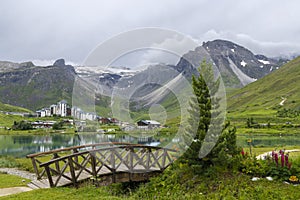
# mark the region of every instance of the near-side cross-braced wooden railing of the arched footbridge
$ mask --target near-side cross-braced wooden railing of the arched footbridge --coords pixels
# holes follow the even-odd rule
[[[113,146],[73,153],[40,164],[45,169],[50,187],[111,174],[112,182],[119,172],[148,173],[163,171],[173,161],[172,149],[143,145]],[[79,158],[79,159],[78,159]]]

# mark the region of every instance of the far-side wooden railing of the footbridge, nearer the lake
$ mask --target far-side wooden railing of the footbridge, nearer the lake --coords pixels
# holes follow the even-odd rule
[[[62,149],[55,149],[47,152],[40,152],[35,154],[29,154],[26,157],[31,159],[33,170],[37,176],[37,179],[41,179],[46,175],[45,168],[41,168],[40,164],[46,162],[46,160],[55,160],[65,155],[78,153],[80,151],[86,151],[87,149],[97,149],[102,147],[119,146],[119,145],[132,145],[130,143],[123,142],[103,142],[96,144],[86,144],[80,146],[72,146]],[[76,160],[76,157],[74,158]]]

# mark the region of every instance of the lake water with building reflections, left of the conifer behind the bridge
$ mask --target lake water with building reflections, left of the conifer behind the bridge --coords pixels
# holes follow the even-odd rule
[[[31,153],[100,142],[129,142],[150,146],[158,146],[160,144],[160,140],[154,137],[136,138],[129,135],[99,133],[80,133],[74,135],[0,135],[0,155],[24,157]]]

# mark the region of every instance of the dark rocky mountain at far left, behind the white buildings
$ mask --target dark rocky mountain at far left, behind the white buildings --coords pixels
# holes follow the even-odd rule
[[[1,62],[0,69],[0,102],[35,110],[71,99],[76,73],[63,59],[46,67]]]

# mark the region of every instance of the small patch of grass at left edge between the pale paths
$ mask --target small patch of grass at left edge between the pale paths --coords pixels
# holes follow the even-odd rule
[[[30,180],[10,174],[0,173],[0,188],[26,186]]]

